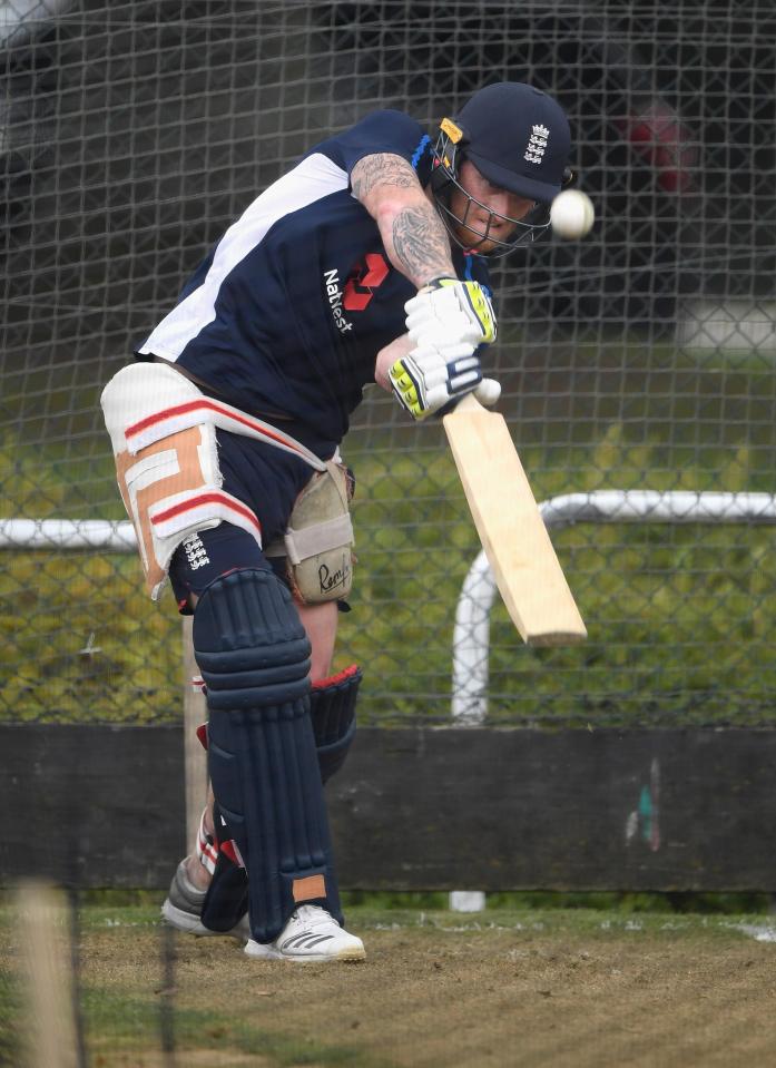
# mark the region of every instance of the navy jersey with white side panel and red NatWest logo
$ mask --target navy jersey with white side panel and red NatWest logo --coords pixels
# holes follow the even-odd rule
[[[415,294],[350,174],[362,157],[392,153],[425,186],[430,147],[414,119],[392,110],[317,145],[226,231],[136,354],[176,362],[244,411],[282,413],[331,454],[374,382],[379,351],[405,333]],[[456,248],[453,262],[459,277],[488,285],[481,256]]]

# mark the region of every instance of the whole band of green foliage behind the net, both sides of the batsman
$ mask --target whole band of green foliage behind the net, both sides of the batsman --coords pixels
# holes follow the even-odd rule
[[[538,499],[599,489],[773,490],[776,432],[758,409],[770,389],[764,369],[704,372],[674,350],[621,345],[577,361],[583,371],[568,411],[560,412],[563,394],[542,385],[508,412]],[[362,723],[449,722],[455,606],[479,542],[442,430],[356,428],[346,445],[357,477],[357,565],[335,668],[364,667]],[[87,433],[36,450],[7,435],[4,515],[124,519],[108,452],[105,438]],[[553,541],[590,639],[528,649],[497,598],[491,722],[591,729],[773,722],[769,528],[578,523],[556,530]],[[169,595],[151,605],[132,557],[4,553],[0,634],[0,717],[180,714],[179,619]]]

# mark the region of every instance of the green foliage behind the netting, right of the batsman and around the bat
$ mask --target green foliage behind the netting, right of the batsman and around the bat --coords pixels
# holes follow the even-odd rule
[[[659,440],[632,442],[629,433],[612,423],[589,447],[567,448],[562,463],[546,448],[521,450],[537,496],[645,483],[762,489],[760,464],[773,459],[740,447],[704,455],[704,464],[697,455],[692,464],[671,464],[671,450]],[[342,628],[348,653],[379,677],[392,713],[444,721],[449,706],[439,692],[450,692],[454,607],[479,551],[458,477],[443,450],[400,454],[390,464],[374,449],[355,457],[351,450],[348,458],[360,474],[357,529],[371,536],[353,598],[357,629],[351,633],[347,621]],[[769,528],[580,523],[556,531],[553,541],[590,640],[528,649],[497,599],[492,722],[770,721],[776,560]]]

